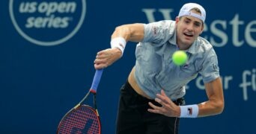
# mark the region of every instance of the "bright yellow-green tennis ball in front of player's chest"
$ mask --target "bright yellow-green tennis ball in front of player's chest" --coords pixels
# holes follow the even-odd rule
[[[172,54],[172,61],[177,66],[183,66],[186,63],[188,56],[186,55],[185,51],[175,51]]]

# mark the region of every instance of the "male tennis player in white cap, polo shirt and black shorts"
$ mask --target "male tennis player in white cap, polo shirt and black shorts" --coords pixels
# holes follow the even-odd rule
[[[138,42],[134,68],[121,87],[118,134],[177,134],[180,118],[217,115],[224,109],[222,82],[213,46],[200,34],[206,12],[199,4],[184,4],[175,21],[129,24],[115,28],[112,48],[100,51],[95,68],[106,68],[122,57],[128,41]],[[175,66],[174,51],[188,60]],[[201,74],[208,100],[185,104],[185,86]]]

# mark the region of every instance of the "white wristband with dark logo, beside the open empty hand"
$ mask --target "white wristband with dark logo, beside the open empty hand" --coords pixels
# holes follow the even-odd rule
[[[180,106],[180,118],[197,118],[199,108],[198,105]]]

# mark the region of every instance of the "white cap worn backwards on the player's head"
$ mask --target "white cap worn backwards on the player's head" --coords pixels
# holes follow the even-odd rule
[[[191,12],[191,10],[195,7],[201,11],[201,15]],[[179,16],[193,16],[195,18],[201,19],[204,22],[206,18],[206,12],[204,10],[204,7],[202,7],[200,4],[187,3],[187,4],[184,4],[183,7],[181,7]]]

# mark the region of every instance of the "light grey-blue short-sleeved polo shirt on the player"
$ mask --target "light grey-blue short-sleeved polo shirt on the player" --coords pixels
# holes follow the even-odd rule
[[[206,39],[198,37],[186,50],[188,60],[184,66],[176,66],[171,60],[177,49],[174,21],[144,25],[144,39],[135,51],[135,80],[150,98],[156,98],[161,89],[171,100],[183,97],[186,84],[198,73],[204,83],[219,77],[216,52]]]

